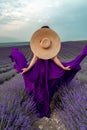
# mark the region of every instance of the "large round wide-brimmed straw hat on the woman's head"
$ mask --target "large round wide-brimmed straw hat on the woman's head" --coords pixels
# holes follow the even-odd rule
[[[52,29],[41,28],[32,35],[30,47],[40,59],[51,59],[60,51],[60,38]]]

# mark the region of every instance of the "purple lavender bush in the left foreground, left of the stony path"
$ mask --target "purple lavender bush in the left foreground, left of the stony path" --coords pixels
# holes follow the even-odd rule
[[[11,107],[0,105],[0,130],[33,130],[36,121],[36,109],[33,97],[26,95],[15,97]]]

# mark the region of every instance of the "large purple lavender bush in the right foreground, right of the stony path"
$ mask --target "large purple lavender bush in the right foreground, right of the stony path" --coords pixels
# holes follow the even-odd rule
[[[87,84],[74,80],[59,88],[54,100],[66,130],[87,130]]]

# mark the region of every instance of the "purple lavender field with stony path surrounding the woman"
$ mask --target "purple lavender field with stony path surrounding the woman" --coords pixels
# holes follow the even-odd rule
[[[87,41],[62,43],[58,55],[70,61]],[[30,62],[28,45],[17,46]],[[12,47],[0,47],[0,130],[87,130],[87,57],[70,85],[61,86],[51,103],[51,118],[38,119],[33,97],[28,97],[21,74],[13,68]]]

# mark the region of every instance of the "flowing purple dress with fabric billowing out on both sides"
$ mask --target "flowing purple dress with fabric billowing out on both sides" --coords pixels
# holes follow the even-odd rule
[[[51,59],[38,59],[35,65],[26,73],[23,79],[28,94],[34,96],[39,117],[50,117],[50,102],[53,94],[62,84],[70,83],[76,73],[81,70],[80,63],[87,55],[87,45],[82,52],[70,62],[62,62],[64,66],[70,66],[71,70],[63,70]],[[28,66],[22,52],[13,48],[10,58],[15,62],[14,68],[20,73],[22,68]]]

